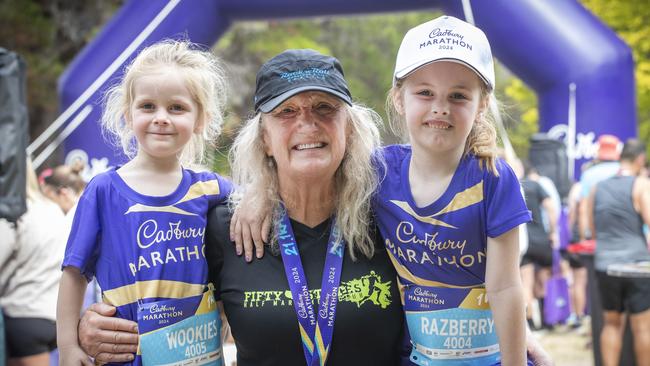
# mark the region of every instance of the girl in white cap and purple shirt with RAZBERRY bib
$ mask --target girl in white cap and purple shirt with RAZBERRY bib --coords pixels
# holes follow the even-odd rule
[[[408,31],[387,100],[410,145],[383,149],[373,208],[403,286],[418,365],[523,365],[519,182],[497,158],[490,45],[442,16]]]

